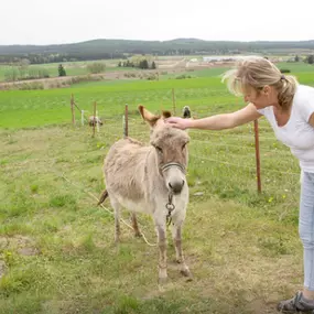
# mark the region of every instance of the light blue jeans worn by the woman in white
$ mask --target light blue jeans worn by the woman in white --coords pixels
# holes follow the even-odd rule
[[[304,286],[314,291],[314,173],[303,172],[299,234],[304,248]]]

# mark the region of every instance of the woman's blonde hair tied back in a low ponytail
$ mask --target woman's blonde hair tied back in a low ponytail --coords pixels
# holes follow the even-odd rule
[[[227,80],[228,89],[239,96],[248,87],[260,91],[266,85],[278,91],[278,102],[282,109],[289,109],[294,97],[297,80],[292,75],[282,75],[280,69],[263,57],[243,58],[237,62],[236,68],[227,71],[223,82]]]

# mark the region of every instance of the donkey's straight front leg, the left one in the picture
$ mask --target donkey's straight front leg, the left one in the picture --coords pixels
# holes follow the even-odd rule
[[[166,232],[165,223],[158,221],[155,219],[155,228],[158,234],[158,245],[159,245],[159,283],[166,283]]]

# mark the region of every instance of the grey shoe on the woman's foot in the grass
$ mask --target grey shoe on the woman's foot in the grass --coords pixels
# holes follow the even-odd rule
[[[297,313],[297,312],[311,312],[314,313],[314,302],[310,303],[304,300],[302,292],[297,292],[293,299],[281,301],[277,310],[281,313]]]

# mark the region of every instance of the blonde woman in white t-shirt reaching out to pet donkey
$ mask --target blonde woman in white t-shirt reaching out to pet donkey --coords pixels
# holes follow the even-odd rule
[[[284,76],[266,58],[239,62],[228,71],[229,90],[242,95],[248,105],[238,111],[204,119],[169,118],[178,129],[231,129],[264,116],[275,137],[291,149],[300,161],[302,188],[299,232],[304,248],[304,288],[278,305],[285,313],[314,310],[314,88]]]

